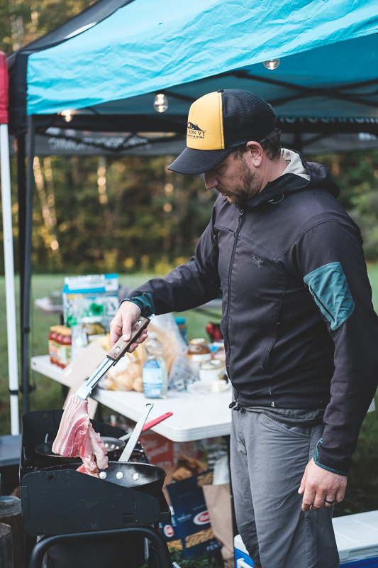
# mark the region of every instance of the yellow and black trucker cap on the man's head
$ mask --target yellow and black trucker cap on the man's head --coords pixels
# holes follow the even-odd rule
[[[168,170],[205,173],[223,162],[233,148],[251,140],[260,142],[276,121],[270,104],[250,91],[221,89],[205,94],[191,104],[187,148]]]

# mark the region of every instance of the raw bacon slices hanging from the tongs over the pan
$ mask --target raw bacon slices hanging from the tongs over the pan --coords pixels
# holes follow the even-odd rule
[[[78,471],[96,477],[99,476],[99,469],[108,467],[108,452],[89,420],[87,399],[82,400],[77,395],[71,395],[68,399],[52,452],[64,457],[77,457],[79,454],[83,465]]]

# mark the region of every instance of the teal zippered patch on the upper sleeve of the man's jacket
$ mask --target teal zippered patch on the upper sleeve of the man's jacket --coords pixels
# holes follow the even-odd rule
[[[331,262],[316,268],[304,277],[304,283],[322,314],[330,322],[330,329],[338,329],[355,309],[343,267]]]

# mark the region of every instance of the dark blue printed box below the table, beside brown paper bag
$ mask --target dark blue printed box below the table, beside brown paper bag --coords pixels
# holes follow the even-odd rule
[[[212,471],[204,471],[166,487],[176,523],[172,537],[176,536],[177,531],[185,558],[221,550],[220,543],[213,535],[202,489],[204,484],[211,484],[212,474]]]

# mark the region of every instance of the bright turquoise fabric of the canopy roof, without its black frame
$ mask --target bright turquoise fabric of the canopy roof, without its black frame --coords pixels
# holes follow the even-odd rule
[[[377,68],[374,4],[271,0],[268,7],[252,0],[191,0],[177,10],[174,0],[160,0],[157,10],[155,0],[134,0],[29,56],[28,114],[94,107],[246,65],[262,80],[308,88],[369,80],[374,63]],[[278,72],[265,70],[262,62],[277,57]],[[350,112],[356,111],[362,109]]]

